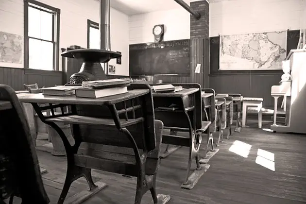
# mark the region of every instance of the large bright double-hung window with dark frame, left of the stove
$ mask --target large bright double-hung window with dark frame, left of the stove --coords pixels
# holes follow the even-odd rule
[[[60,10],[24,0],[25,68],[59,70]]]

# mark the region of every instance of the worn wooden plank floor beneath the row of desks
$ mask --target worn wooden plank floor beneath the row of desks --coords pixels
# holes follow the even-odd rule
[[[209,170],[191,190],[180,188],[186,176],[188,148],[182,147],[162,159],[157,193],[170,195],[168,204],[306,203],[306,136],[269,132],[266,123],[263,129],[256,128],[256,122],[248,124],[250,127],[241,128],[240,133],[233,132],[229,140],[224,139],[220,151],[209,160]],[[252,145],[247,158],[229,151],[236,140]],[[275,171],[255,162],[258,149],[274,154]],[[66,157],[37,152],[40,166],[48,170],[42,175],[46,190],[51,203],[56,203],[65,181]],[[193,164],[192,170],[195,168]],[[136,178],[99,170],[92,170],[92,174],[95,182],[101,180],[108,186],[84,204],[134,204]],[[85,179],[78,179],[72,184],[69,196],[84,187],[87,187]],[[142,203],[151,202],[151,194],[147,192]]]

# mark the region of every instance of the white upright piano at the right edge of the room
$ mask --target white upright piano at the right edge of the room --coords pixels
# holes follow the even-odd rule
[[[274,98],[271,130],[306,134],[306,50],[291,50],[286,60],[290,60],[291,80],[271,87],[271,96]],[[279,97],[285,99],[285,125],[276,124]]]

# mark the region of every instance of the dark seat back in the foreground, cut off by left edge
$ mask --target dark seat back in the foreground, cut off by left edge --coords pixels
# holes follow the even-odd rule
[[[48,204],[34,142],[13,88],[0,85],[0,203]]]

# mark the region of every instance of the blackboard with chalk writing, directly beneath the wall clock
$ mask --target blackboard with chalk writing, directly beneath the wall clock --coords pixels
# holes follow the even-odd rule
[[[189,39],[130,45],[130,75],[190,74]]]

